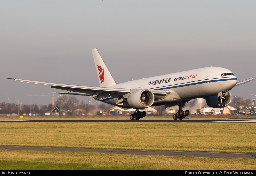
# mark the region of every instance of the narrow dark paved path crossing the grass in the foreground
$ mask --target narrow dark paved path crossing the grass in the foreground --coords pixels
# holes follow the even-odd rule
[[[112,154],[130,154],[130,155],[164,155],[164,156],[191,156],[191,157],[210,157],[210,158],[250,158],[250,159],[256,159],[256,154],[241,154],[241,153],[147,151],[147,150],[112,150],[112,149],[19,147],[19,146],[0,146],[0,149],[5,149],[5,150],[36,150],[36,151],[97,152],[97,153],[112,153]]]

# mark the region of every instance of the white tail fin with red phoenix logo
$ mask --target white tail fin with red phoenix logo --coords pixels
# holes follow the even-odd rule
[[[99,77],[100,87],[110,87],[115,85],[116,82],[114,78],[112,77],[108,67],[104,63],[103,59],[101,58],[96,48],[92,49],[92,55],[93,55],[97,75]]]

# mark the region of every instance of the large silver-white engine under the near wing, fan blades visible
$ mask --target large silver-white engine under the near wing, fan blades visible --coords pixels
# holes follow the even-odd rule
[[[154,103],[154,100],[154,94],[147,89],[135,90],[127,98],[129,106],[136,109],[150,107]]]

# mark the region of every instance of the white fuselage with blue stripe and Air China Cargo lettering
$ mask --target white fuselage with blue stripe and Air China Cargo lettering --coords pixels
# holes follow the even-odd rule
[[[226,74],[225,76],[223,75]],[[155,99],[153,105],[186,101],[217,95],[231,90],[237,78],[230,70],[220,67],[206,67],[194,70],[171,73],[167,75],[144,78],[111,86],[113,88],[170,90],[172,96]],[[229,75],[227,75],[229,74]],[[118,97],[96,98],[99,101],[117,105]],[[117,106],[130,108],[122,104]]]

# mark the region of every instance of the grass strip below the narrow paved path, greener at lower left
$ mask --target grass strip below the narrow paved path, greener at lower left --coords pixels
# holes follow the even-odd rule
[[[255,170],[256,160],[0,150],[1,170]]]

